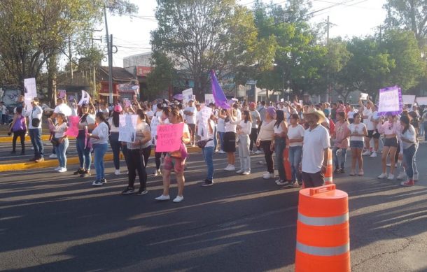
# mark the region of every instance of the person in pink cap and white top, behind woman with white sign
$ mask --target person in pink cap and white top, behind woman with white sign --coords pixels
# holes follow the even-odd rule
[[[110,125],[110,146],[113,151],[113,164],[114,164],[114,175],[120,175],[120,149],[123,152],[123,156],[126,158],[127,148],[126,145],[122,145],[120,141],[118,141],[119,127],[120,127],[120,113],[123,112],[123,108],[120,105],[116,105],[113,108],[113,113],[109,118]],[[126,154],[125,154],[126,153]]]

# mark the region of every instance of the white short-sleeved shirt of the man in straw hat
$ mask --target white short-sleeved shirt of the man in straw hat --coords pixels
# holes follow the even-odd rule
[[[325,148],[330,148],[328,129],[318,124],[310,131],[304,131],[304,144],[302,145],[302,171],[305,173],[318,173],[323,164]]]

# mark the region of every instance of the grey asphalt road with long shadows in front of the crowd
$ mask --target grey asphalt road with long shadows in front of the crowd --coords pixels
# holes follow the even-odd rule
[[[414,187],[378,180],[379,157],[365,158],[364,177],[334,177],[349,194],[352,271],[427,271],[426,154],[421,145]],[[71,167],[0,173],[0,270],[293,271],[298,189],[262,180],[261,156],[250,176],[222,171],[225,155],[214,156],[213,187],[197,185],[206,166],[190,157],[181,203],[154,200],[160,177],[144,196],[121,196],[127,178],[111,162],[95,188]]]

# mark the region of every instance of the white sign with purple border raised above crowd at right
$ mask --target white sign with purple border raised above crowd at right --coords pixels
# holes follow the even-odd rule
[[[402,90],[400,87],[393,86],[379,90],[378,115],[386,115],[387,113],[398,115],[402,113],[402,109]]]

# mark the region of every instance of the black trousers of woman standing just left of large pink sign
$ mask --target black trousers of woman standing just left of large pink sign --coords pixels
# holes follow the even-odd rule
[[[129,182],[127,186],[132,188],[134,187],[138,171],[139,184],[141,185],[139,190],[144,191],[147,184],[147,173],[144,158],[139,149],[127,149],[127,170],[129,170]]]

